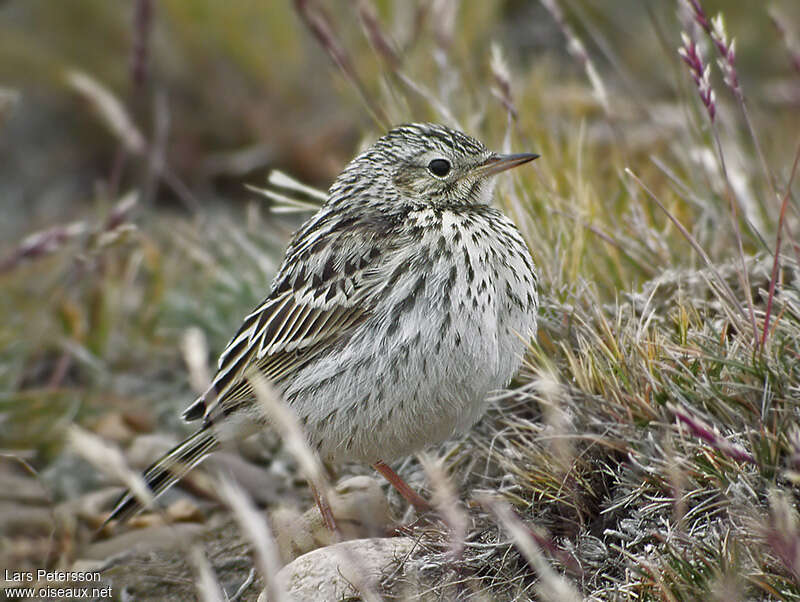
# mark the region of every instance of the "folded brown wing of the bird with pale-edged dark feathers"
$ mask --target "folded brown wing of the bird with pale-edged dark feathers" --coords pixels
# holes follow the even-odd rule
[[[270,295],[245,319],[219,358],[209,391],[183,414],[214,420],[252,399],[244,378],[255,367],[278,383],[371,313],[375,266],[388,250],[375,224],[318,214],[294,237]]]

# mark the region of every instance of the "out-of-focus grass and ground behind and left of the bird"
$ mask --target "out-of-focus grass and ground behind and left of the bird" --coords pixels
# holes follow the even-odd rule
[[[139,468],[187,432],[179,411],[308,216],[248,189],[274,170],[324,190],[408,121],[538,152],[500,202],[546,303],[612,303],[703,265],[626,169],[711,261],[737,257],[731,194],[743,252],[774,249],[800,133],[800,3],[703,8],[736,39],[744,101],[684,1],[0,2],[0,491],[28,492],[0,503],[14,566],[68,564],[119,491],[65,447],[69,425]],[[682,31],[710,65],[713,121]],[[282,479],[275,496],[302,487],[263,443],[242,453]],[[52,508],[74,500],[79,518],[54,531]]]

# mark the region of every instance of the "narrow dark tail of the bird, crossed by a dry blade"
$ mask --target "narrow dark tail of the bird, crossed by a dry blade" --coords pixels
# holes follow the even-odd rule
[[[144,471],[144,482],[153,492],[153,497],[158,497],[172,487],[219,445],[210,426],[206,425],[184,439]],[[130,491],[126,491],[117,500],[104,524],[112,520],[124,522],[141,509],[141,501]]]

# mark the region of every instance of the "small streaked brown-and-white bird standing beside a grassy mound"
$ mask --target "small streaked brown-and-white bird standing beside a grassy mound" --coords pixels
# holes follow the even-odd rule
[[[256,371],[323,461],[372,465],[429,509],[387,462],[466,432],[523,362],[537,272],[519,229],[491,203],[497,174],[538,156],[496,153],[434,123],[397,126],[356,156],[183,412],[197,431],[145,470],[154,496],[220,444],[269,427]],[[127,491],[106,523],[141,506]]]

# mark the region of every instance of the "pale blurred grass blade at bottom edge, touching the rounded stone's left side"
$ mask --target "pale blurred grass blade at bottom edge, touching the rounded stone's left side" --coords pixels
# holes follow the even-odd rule
[[[227,479],[220,482],[220,497],[233,512],[242,534],[253,544],[258,568],[271,602],[287,600],[286,588],[277,579],[281,569],[280,552],[266,518],[256,509],[244,490]]]

